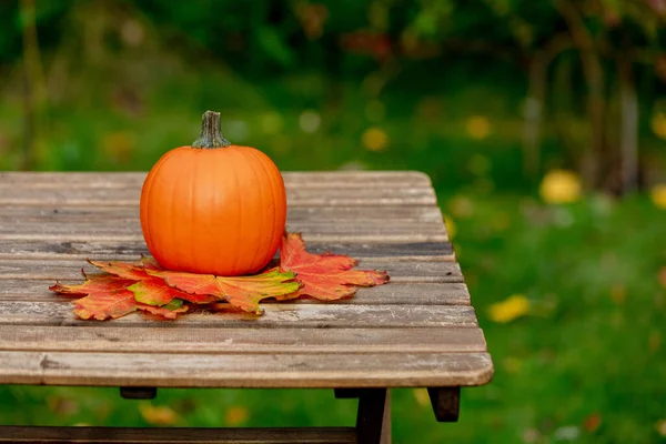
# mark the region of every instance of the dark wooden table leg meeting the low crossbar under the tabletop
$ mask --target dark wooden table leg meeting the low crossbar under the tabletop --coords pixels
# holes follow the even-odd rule
[[[391,444],[391,397],[386,389],[359,391],[359,444]]]

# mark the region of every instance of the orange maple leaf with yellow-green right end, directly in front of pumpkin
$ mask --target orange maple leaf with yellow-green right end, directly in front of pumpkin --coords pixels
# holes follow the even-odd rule
[[[250,313],[261,313],[259,302],[268,297],[279,297],[294,293],[301,284],[294,281],[295,273],[280,272],[278,269],[264,271],[253,276],[215,276],[175,271],[148,271],[175,286],[195,295],[211,295]],[[209,301],[210,302],[210,301]]]

